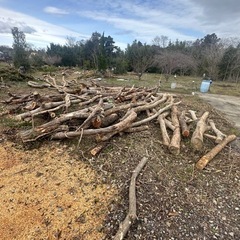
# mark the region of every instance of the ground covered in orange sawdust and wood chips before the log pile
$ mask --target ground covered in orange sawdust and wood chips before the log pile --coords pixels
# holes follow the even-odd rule
[[[197,116],[209,111],[224,133],[237,132],[197,96],[178,98],[181,110]],[[195,163],[216,145],[213,140],[205,139],[195,152],[183,139],[174,156],[162,146],[158,124],[149,126],[115,136],[94,158],[91,138],[79,147],[77,140],[22,144],[18,129],[1,126],[0,239],[113,239],[128,211],[132,171],[143,156],[148,162],[137,179],[138,219],[125,239],[240,239],[239,138],[197,171]]]

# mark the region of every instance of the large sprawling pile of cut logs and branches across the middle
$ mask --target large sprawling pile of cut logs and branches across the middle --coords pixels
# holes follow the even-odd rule
[[[205,112],[197,118],[193,110],[178,111],[176,98],[172,94],[159,93],[158,88],[104,87],[94,81],[77,83],[65,81],[58,84],[55,78],[46,76],[43,83],[29,81],[34,88],[56,89],[55,94],[39,94],[37,91],[26,95],[9,94],[4,103],[16,104],[22,110],[15,118],[31,121],[32,127],[22,131],[23,142],[39,138],[64,139],[95,136],[97,147],[91,150],[98,154],[106,141],[119,133],[131,133],[149,129],[149,122],[155,120],[160,126],[162,144],[172,154],[180,153],[182,137],[189,137],[189,124],[196,125],[191,134],[191,145],[195,150],[203,147],[204,137],[215,140],[218,144],[204,161],[197,167],[203,169],[206,164],[236,136],[226,136],[218,130]],[[36,125],[36,118],[43,121]],[[214,133],[210,135],[207,131]],[[203,163],[204,162],[204,163]]]

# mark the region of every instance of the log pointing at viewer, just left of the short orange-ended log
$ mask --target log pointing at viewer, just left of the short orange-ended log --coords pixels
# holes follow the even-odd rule
[[[180,126],[179,126],[177,115],[178,115],[177,106],[173,105],[171,117],[172,117],[172,123],[175,129],[173,131],[173,136],[168,148],[169,148],[169,151],[175,155],[178,155],[180,153],[180,142],[181,142]]]

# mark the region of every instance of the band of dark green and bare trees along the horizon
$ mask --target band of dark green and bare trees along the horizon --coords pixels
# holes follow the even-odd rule
[[[204,74],[213,80],[235,82],[240,77],[240,40],[220,39],[215,33],[195,41],[171,41],[167,36],[156,36],[151,44],[135,40],[125,50],[116,46],[111,36],[98,32],[87,40],[67,37],[64,45],[51,43],[47,49],[31,47],[16,27],[12,35],[12,48],[0,46],[0,51],[10,52],[15,67],[77,66],[115,74],[134,71],[139,79],[144,72],[162,73],[166,80],[172,74]]]

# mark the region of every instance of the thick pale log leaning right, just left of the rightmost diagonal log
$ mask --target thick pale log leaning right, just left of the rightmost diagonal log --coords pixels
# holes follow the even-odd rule
[[[203,134],[208,129],[206,120],[208,118],[209,112],[205,112],[199,121],[197,122],[197,126],[195,131],[193,132],[191,138],[191,145],[195,150],[200,150],[203,146]]]

